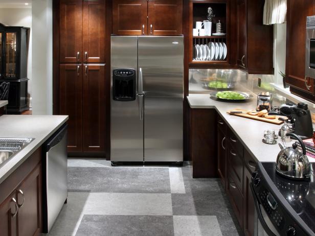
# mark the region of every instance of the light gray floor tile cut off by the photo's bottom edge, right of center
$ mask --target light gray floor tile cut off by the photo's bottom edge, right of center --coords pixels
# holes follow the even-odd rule
[[[222,236],[216,216],[173,216],[173,222],[175,236]]]

